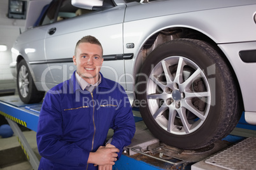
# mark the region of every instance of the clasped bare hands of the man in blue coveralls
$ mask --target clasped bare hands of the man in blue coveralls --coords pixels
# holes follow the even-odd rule
[[[115,147],[99,147],[96,152],[90,152],[88,163],[99,166],[113,166],[117,160],[117,152],[119,152],[119,149]]]

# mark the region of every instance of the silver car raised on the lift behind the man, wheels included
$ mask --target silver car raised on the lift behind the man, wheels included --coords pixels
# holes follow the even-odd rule
[[[104,77],[125,88],[152,134],[196,149],[256,124],[255,0],[30,1],[11,70],[24,103],[69,79],[83,36],[103,44]]]

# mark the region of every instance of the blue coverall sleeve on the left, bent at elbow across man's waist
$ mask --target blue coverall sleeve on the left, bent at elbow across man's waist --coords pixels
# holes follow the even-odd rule
[[[85,166],[89,152],[62,140],[62,109],[60,95],[46,93],[36,134],[39,154],[59,164]]]

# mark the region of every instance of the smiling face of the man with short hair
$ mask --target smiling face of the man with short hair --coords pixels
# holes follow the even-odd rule
[[[102,53],[101,46],[89,42],[82,42],[76,48],[76,56],[73,56],[76,71],[90,84],[98,81],[99,71],[103,64]]]

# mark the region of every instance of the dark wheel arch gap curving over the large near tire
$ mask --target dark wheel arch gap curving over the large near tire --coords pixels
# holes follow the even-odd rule
[[[243,96],[241,95],[241,88],[239,86],[238,78],[236,73],[234,72],[234,69],[231,66],[231,63],[229,62],[229,59],[224,54],[224,52],[218,47],[217,42],[213,41],[209,36],[204,34],[203,32],[200,32],[199,30],[187,28],[187,27],[169,27],[157,30],[150,34],[144,42],[144,44],[139,49],[139,53],[136,55],[136,61],[134,62],[134,77],[139,74],[141,71],[141,67],[143,63],[145,62],[148,55],[153,51],[153,49],[157,48],[160,44],[163,44],[164,42],[171,41],[174,39],[180,39],[180,38],[186,38],[186,39],[197,39],[204,42],[207,42],[210,44],[215,50],[220,53],[222,58],[224,59],[225,63],[227,63],[229,70],[231,70],[232,75],[234,75],[236,86],[238,87],[239,92],[239,98],[241,101],[243,101]],[[135,84],[138,83],[138,79],[135,79]],[[135,98],[137,98],[137,95],[135,93]],[[243,102],[241,102],[243,104]],[[244,105],[241,106],[244,108]]]

